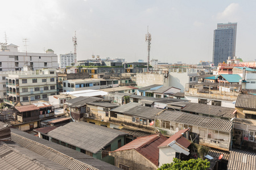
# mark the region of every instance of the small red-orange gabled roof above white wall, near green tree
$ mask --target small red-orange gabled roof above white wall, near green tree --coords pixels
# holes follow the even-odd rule
[[[188,141],[188,139],[183,137],[183,133],[186,133],[188,130],[190,130],[190,129],[182,129],[182,130],[178,131],[177,133],[172,135],[170,138],[168,138],[166,141],[164,141],[158,147],[166,147],[166,146],[170,145],[170,143],[172,141],[176,141],[177,143],[179,143],[183,147],[187,148],[191,144],[191,142]]]

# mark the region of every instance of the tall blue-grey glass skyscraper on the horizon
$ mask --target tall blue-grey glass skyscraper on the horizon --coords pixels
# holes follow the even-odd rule
[[[217,24],[213,37],[213,63],[218,66],[236,56],[237,23]]]

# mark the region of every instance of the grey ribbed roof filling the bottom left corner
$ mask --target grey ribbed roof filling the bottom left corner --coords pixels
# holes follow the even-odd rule
[[[17,145],[0,142],[0,169],[68,169]]]

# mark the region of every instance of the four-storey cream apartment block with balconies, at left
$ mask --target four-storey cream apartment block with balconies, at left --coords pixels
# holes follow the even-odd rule
[[[6,76],[7,104],[48,100],[48,96],[57,94],[55,69],[32,71],[25,68],[24,71],[10,71]]]

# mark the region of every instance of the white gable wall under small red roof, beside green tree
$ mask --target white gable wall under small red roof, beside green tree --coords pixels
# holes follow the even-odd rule
[[[159,167],[163,164],[172,163],[175,158],[176,151],[171,147],[159,148]]]

